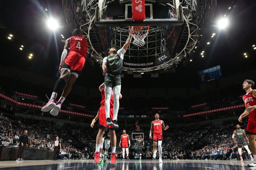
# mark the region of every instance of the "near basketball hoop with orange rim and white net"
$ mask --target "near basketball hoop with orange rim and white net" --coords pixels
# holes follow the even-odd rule
[[[136,26],[135,30],[134,30],[134,27],[132,26],[129,27],[129,34],[131,34],[134,39],[132,43],[139,47],[144,46],[146,44],[144,39],[146,38],[148,33],[149,33],[148,26],[143,26],[143,27]]]

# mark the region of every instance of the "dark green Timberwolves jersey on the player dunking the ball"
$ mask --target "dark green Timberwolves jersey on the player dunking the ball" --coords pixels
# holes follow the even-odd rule
[[[123,69],[123,59],[118,55],[108,55],[107,72],[109,74],[119,75]]]

